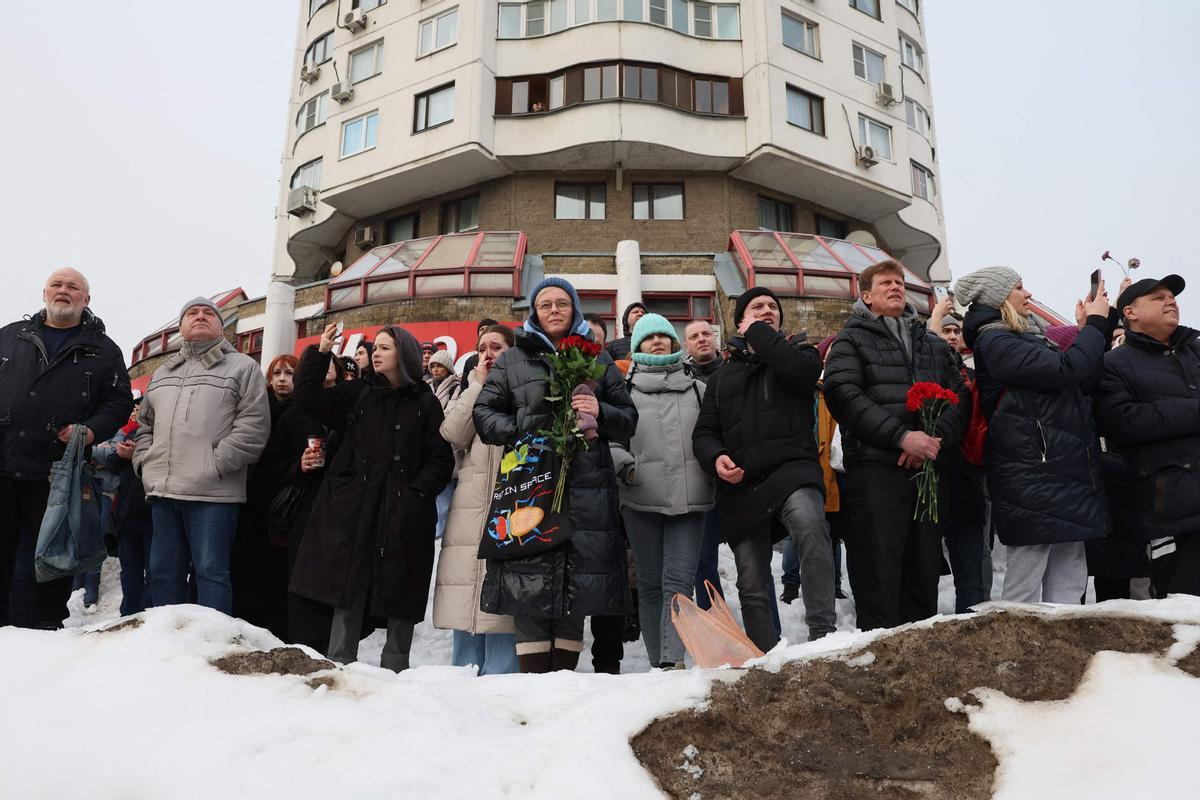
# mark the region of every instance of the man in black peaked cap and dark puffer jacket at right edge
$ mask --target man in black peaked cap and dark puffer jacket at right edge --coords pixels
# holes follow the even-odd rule
[[[1177,275],[1121,293],[1124,345],[1104,355],[1096,417],[1134,481],[1157,597],[1200,595],[1200,332],[1180,325]]]

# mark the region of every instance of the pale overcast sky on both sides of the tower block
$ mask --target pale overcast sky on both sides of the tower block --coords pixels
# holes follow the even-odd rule
[[[188,297],[265,291],[299,4],[2,6],[0,323],[62,265],[126,357]],[[1110,249],[1200,297],[1200,2],[928,0],[925,22],[955,276],[1007,264],[1069,314]]]

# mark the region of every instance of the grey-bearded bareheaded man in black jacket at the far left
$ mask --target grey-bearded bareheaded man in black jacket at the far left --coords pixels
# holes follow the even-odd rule
[[[44,307],[0,329],[0,625],[62,626],[71,578],[34,575],[50,464],[74,426],[89,445],[104,441],[133,408],[125,359],[88,308],[90,293],[78,270],[55,270]]]

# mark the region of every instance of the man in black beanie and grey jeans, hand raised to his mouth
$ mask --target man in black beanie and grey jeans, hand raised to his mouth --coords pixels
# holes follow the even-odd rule
[[[816,384],[821,356],[788,341],[770,289],[738,297],[730,360],[708,380],[692,449],[720,479],[721,539],[733,549],[746,634],[760,650],[779,640],[770,601],[772,542],[790,535],[800,557],[809,639],[836,628],[833,547],[817,461]],[[776,535],[778,531],[778,535]]]

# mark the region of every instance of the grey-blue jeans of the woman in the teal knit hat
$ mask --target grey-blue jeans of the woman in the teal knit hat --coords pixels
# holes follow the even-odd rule
[[[691,596],[704,541],[704,513],[667,516],[622,509],[637,564],[637,616],[650,666],[683,663],[683,639],[671,621],[676,594]]]

